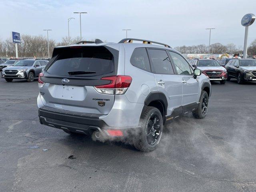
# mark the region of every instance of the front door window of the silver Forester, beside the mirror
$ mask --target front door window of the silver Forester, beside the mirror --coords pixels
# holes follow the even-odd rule
[[[190,66],[186,60],[177,53],[169,51],[172,60],[174,61],[175,68],[180,75],[192,75]]]

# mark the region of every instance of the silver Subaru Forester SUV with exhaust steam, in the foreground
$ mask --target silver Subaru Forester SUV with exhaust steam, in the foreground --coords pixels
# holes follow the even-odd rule
[[[182,54],[130,38],[54,48],[38,86],[41,124],[96,139],[130,140],[144,152],[154,150],[164,125],[182,114],[204,118],[211,94],[209,78]]]

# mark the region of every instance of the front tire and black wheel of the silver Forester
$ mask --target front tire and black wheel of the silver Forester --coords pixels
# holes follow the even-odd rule
[[[206,91],[202,91],[198,108],[192,112],[194,118],[203,119],[206,117],[209,106],[209,96]]]

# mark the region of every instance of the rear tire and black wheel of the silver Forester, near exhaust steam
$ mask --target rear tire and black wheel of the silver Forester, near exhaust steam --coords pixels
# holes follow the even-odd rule
[[[133,138],[135,148],[142,152],[155,150],[160,142],[163,128],[161,112],[155,107],[147,107],[140,119],[140,128]]]

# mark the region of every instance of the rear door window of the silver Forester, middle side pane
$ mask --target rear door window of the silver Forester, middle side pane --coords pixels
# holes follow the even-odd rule
[[[157,74],[174,74],[170,58],[165,50],[148,49],[152,72]]]

